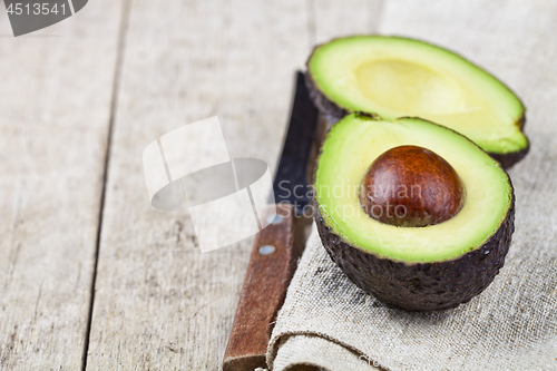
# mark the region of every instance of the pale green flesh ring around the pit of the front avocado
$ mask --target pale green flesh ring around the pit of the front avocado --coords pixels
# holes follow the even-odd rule
[[[369,166],[402,145],[428,148],[455,168],[466,192],[456,216],[424,227],[397,227],[365,214],[359,192]],[[405,263],[442,262],[481,247],[512,203],[510,180],[495,159],[466,137],[418,118],[345,116],[328,134],[314,180],[315,202],[326,226],[352,246]]]

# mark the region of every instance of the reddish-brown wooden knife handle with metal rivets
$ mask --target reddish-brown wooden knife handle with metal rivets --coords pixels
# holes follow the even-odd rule
[[[277,217],[255,237],[223,371],[266,368],[265,353],[276,312],[305,247],[304,223],[296,218],[294,207],[289,204],[270,207],[276,207]]]

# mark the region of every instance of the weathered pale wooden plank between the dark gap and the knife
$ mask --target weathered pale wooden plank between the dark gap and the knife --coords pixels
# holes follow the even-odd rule
[[[217,115],[231,155],[274,172],[294,70],[307,53],[305,11],[300,1],[134,1],[88,369],[221,368],[252,242],[202,254],[186,213],[149,206],[141,153]]]

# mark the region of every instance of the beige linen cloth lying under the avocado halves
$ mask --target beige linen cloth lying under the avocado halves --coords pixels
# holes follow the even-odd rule
[[[482,294],[453,310],[409,313],[354,286],[314,231],[267,363],[273,371],[557,370],[557,1],[397,0],[382,11],[381,33],[459,51],[528,107],[531,152],[509,172],[514,242]]]

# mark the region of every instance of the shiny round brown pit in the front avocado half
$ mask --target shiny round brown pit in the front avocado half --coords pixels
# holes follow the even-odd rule
[[[400,146],[371,164],[360,202],[381,223],[422,227],[457,215],[465,204],[465,188],[455,168],[438,154]]]

